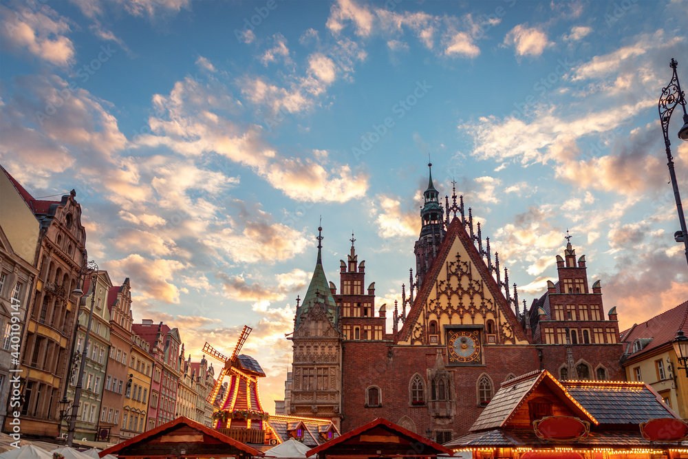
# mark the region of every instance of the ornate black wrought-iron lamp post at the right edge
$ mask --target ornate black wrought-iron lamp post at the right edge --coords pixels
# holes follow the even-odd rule
[[[678,183],[676,182],[676,171],[674,171],[674,158],[671,156],[671,149],[669,145],[669,120],[671,114],[674,113],[676,105],[680,104],[683,109],[683,127],[678,131],[678,138],[681,140],[688,140],[688,113],[686,113],[686,100],[681,85],[678,82],[678,74],[676,73],[676,66],[678,62],[671,58],[669,67],[674,69],[674,74],[671,76],[669,85],[662,89],[662,95],[659,98],[659,119],[662,122],[662,132],[664,134],[664,145],[667,147],[667,166],[669,166],[669,176],[671,177],[671,185],[674,186],[674,198],[676,198],[676,210],[678,211],[678,221],[681,229],[674,233],[676,242],[682,242],[685,246],[686,261],[688,262],[688,230],[686,229],[686,218],[683,213],[683,206],[681,205],[681,196],[678,193]],[[688,357],[688,355],[687,355]],[[688,371],[688,370],[687,370]]]

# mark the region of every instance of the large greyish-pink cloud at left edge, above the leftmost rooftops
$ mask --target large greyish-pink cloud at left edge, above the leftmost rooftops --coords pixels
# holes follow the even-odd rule
[[[25,184],[70,167],[100,174],[126,145],[101,102],[56,75],[18,76],[0,113],[0,158]]]

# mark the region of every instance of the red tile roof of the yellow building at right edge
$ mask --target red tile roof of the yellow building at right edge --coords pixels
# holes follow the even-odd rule
[[[679,328],[683,332],[688,332],[687,314],[688,301],[685,301],[676,306],[676,308],[662,312],[648,321],[633,325],[629,330],[621,333],[623,342],[626,343],[625,352],[629,354],[632,352],[633,343],[636,339],[652,339],[652,341],[649,341],[645,348],[634,353],[634,356],[644,354],[669,343],[669,341],[674,339]]]

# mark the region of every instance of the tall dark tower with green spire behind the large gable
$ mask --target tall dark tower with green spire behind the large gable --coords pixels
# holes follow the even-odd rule
[[[432,184],[432,163],[428,163],[430,178],[423,193],[424,203],[420,209],[420,237],[413,253],[416,254],[416,282],[420,288],[432,264],[437,250],[444,239],[444,211],[440,205],[439,193]]]

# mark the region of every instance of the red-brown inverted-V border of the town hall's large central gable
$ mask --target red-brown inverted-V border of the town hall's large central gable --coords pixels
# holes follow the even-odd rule
[[[454,239],[457,237],[460,239],[464,248],[466,248],[466,252],[469,254],[469,257],[471,257],[471,262],[477,268],[480,278],[482,281],[484,281],[486,288],[488,288],[495,298],[495,301],[497,302],[497,308],[499,308],[502,314],[504,314],[506,321],[513,328],[515,337],[519,341],[527,341],[526,334],[516,319],[516,314],[509,307],[508,302],[504,297],[504,293],[502,293],[502,289],[497,286],[497,281],[495,281],[495,278],[492,277],[492,274],[486,266],[484,259],[482,259],[477,251],[477,248],[475,248],[475,245],[473,242],[471,242],[471,237],[468,233],[466,233],[466,227],[458,217],[453,217],[449,227],[447,228],[447,234],[444,236],[442,244],[440,244],[438,255],[435,257],[435,259],[433,259],[425,281],[422,283],[420,291],[418,292],[418,295],[416,295],[415,301],[413,301],[411,310],[409,310],[407,319],[404,321],[404,325],[402,326],[401,330],[399,330],[398,341],[407,341],[411,338],[413,325],[416,325],[418,319],[420,319],[420,313],[422,310],[424,310],[428,297],[430,296],[433,288],[435,288],[438,275],[444,268],[444,265],[447,263],[447,258],[451,255],[449,250],[451,250]]]

